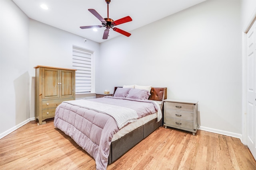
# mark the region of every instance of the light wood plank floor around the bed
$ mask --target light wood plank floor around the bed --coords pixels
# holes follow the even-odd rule
[[[53,120],[31,121],[0,139],[0,170],[95,170],[95,161]],[[160,127],[108,170],[256,170],[256,161],[240,139]]]

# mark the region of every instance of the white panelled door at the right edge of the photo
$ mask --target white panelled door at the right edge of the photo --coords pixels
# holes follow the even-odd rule
[[[248,148],[256,159],[256,22],[247,33],[246,38],[247,87],[246,87],[246,141]]]

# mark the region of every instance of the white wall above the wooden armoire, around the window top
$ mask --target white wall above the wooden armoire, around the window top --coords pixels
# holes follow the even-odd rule
[[[76,45],[99,55],[100,44],[61,29],[30,19],[30,70],[45,65],[72,68],[72,46]]]

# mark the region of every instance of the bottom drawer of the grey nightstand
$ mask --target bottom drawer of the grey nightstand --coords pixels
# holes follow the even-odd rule
[[[186,121],[172,117],[166,117],[165,124],[193,130],[193,121]]]

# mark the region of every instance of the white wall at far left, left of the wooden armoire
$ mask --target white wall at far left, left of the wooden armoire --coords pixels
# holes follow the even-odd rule
[[[0,134],[29,119],[29,19],[0,0]]]

